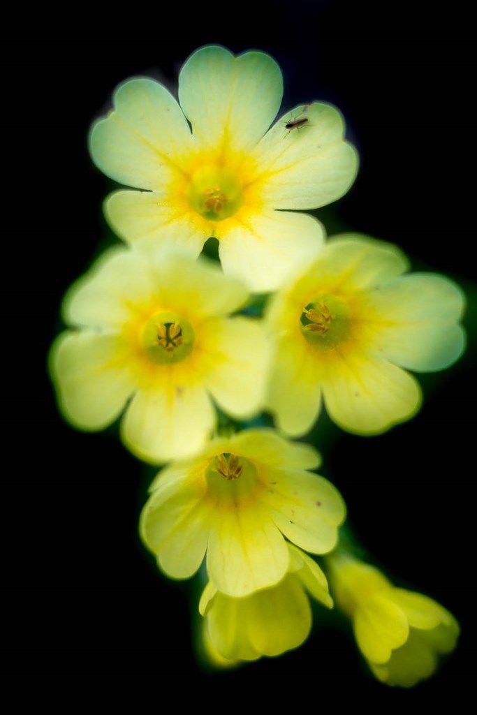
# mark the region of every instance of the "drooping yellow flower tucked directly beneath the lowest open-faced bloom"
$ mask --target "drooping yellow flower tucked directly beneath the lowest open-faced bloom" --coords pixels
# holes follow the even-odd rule
[[[291,544],[288,550],[287,574],[272,588],[230,598],[207,583],[199,610],[207,620],[212,646],[227,661],[255,661],[300,646],[312,624],[308,596],[333,608],[328,582],[318,564]]]

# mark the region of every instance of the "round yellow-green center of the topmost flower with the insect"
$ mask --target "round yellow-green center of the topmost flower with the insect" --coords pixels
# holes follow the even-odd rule
[[[212,164],[200,167],[192,174],[189,201],[197,213],[211,221],[232,216],[243,203],[236,172]]]

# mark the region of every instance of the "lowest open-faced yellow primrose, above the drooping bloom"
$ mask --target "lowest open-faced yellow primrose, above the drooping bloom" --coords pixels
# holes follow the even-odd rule
[[[240,598],[281,581],[290,568],[285,538],[330,551],[345,518],[338,491],[307,469],[310,446],[273,430],[217,438],[191,460],[157,475],[141,515],[144,543],[172,578],[189,578],[207,552],[213,586]]]

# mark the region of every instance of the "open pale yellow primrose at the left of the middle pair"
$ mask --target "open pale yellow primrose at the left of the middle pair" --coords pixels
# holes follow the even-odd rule
[[[262,326],[227,317],[247,291],[189,256],[116,248],[73,285],[50,370],[64,416],[99,430],[125,410],[122,439],[144,460],[200,450],[211,397],[238,418],[262,405],[269,346]]]

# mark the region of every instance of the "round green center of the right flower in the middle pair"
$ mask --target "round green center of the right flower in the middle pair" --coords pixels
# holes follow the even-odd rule
[[[300,327],[310,345],[318,350],[333,350],[350,334],[348,306],[334,295],[320,295],[303,309]]]

